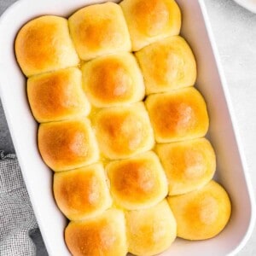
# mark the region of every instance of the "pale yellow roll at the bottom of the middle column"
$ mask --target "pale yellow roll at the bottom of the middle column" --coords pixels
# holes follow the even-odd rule
[[[171,246],[177,224],[166,200],[139,211],[125,212],[129,252],[150,256]]]

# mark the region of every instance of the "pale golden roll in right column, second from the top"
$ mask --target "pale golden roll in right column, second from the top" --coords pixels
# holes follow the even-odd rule
[[[181,37],[166,38],[150,44],[138,51],[136,56],[143,70],[147,94],[195,84],[195,57]]]

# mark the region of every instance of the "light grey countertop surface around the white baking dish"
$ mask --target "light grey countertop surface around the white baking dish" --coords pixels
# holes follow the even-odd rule
[[[194,0],[190,0],[194,1]],[[15,0],[0,0],[0,15]],[[256,15],[231,0],[205,0],[218,46],[254,194],[256,189]],[[0,102],[0,150],[14,153]],[[37,238],[36,238],[37,239]],[[38,238],[40,239],[40,237]],[[40,249],[40,248],[39,248]],[[45,252],[44,250],[39,250]],[[39,253],[45,255],[45,253]],[[256,230],[237,255],[256,255]]]

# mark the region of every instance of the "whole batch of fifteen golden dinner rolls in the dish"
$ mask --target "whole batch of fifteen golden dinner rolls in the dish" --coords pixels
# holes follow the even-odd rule
[[[174,0],[124,0],[26,23],[15,54],[73,255],[155,255],[218,235],[207,104]]]

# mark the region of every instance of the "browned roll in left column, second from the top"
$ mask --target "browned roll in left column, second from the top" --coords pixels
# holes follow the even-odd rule
[[[90,113],[77,67],[33,76],[27,80],[27,96],[39,123],[85,116]]]

